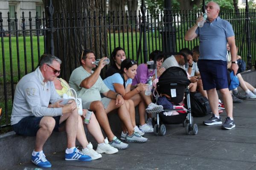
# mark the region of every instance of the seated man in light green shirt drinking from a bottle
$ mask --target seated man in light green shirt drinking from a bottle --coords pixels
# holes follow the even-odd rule
[[[78,97],[82,99],[84,109],[91,109],[100,126],[105,131],[110,145],[117,149],[125,149],[128,144],[121,142],[111,131],[107,114],[113,109],[117,109],[119,118],[128,131],[125,141],[143,143],[147,138],[140,136],[134,132],[131,123],[131,117],[128,112],[128,106],[125,104],[122,95],[109,90],[100,77],[100,72],[105,66],[105,58],[99,61],[99,66],[93,72],[95,65],[95,54],[91,50],[84,50],[81,54],[81,66],[76,68],[70,75],[70,87],[75,89]],[[101,95],[104,98],[101,98]]]

